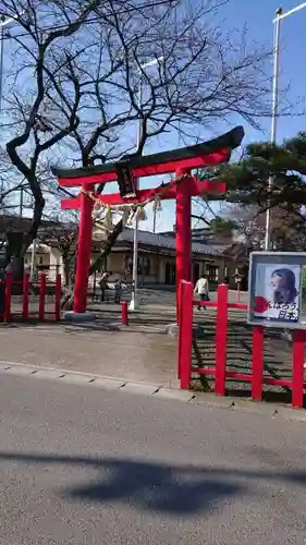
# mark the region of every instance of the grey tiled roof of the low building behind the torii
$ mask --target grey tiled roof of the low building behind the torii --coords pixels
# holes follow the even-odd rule
[[[134,229],[124,229],[118,238],[118,242],[133,242]],[[148,246],[159,246],[169,250],[175,250],[175,238],[164,234],[152,233],[150,231],[138,231],[138,243]],[[201,244],[193,242],[192,251],[194,254],[206,254],[220,256],[223,254],[227,246]]]

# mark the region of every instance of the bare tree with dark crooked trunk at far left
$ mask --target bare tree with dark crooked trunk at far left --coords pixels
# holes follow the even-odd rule
[[[148,14],[148,10],[171,4],[172,0],[145,3],[139,0],[113,0],[111,9],[121,16],[121,13],[140,13],[143,10]],[[54,147],[61,157],[59,143],[79,122],[76,112],[81,110],[82,95],[77,85],[71,85],[71,78],[65,81],[65,92],[73,102],[73,110],[68,118],[53,105],[54,97],[60,96],[58,81],[63,82],[65,64],[71,65],[82,53],[85,66],[86,63],[89,65],[90,48],[97,47],[99,40],[101,14],[107,14],[109,10],[108,2],[100,0],[71,0],[69,3],[64,0],[0,2],[2,19],[15,21],[10,29],[5,27],[4,39],[10,39],[12,62],[7,77],[7,120],[2,123],[2,132],[8,135],[7,150],[11,164],[25,180],[34,203],[33,221],[25,233],[22,254],[37,234],[45,207],[40,164]],[[96,37],[93,40],[94,35]],[[90,117],[87,121],[89,124],[94,122]],[[5,187],[5,196],[8,191]]]

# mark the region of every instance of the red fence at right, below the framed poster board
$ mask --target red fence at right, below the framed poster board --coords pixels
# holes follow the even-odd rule
[[[180,300],[180,332],[179,332],[179,354],[178,354],[178,376],[181,379],[181,388],[187,389],[191,384],[193,373],[210,375],[215,377],[215,392],[220,396],[225,393],[227,378],[237,382],[250,383],[252,397],[256,400],[262,399],[264,384],[291,388],[292,405],[303,407],[304,389],[304,354],[305,354],[305,331],[295,330],[293,332],[293,366],[292,378],[273,378],[264,376],[264,340],[265,328],[253,326],[253,359],[252,374],[237,373],[227,370],[227,338],[228,338],[228,311],[229,308],[246,310],[242,303],[229,302],[229,290],[225,284],[218,287],[217,302],[199,303],[194,301],[192,282],[182,281]],[[217,308],[216,316],[216,362],[215,367],[193,367],[192,365],[192,342],[193,342],[193,307],[198,305],[212,306]]]

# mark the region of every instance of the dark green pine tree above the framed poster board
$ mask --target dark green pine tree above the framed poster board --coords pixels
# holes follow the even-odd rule
[[[306,132],[301,132],[282,145],[249,144],[240,160],[211,171],[205,169],[201,177],[221,178],[227,184],[222,198],[229,205],[238,205],[244,214],[250,210],[253,218],[249,219],[260,226],[262,233],[265,213],[270,208],[273,249],[305,251],[305,174]],[[209,195],[208,198],[217,197]]]

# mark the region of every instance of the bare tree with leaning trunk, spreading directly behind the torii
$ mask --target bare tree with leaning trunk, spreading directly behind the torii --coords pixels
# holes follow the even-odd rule
[[[213,22],[207,24],[223,3],[206,0],[194,11],[164,3],[120,12],[109,0],[98,8],[99,24],[91,27],[84,50],[64,51],[63,70],[53,78],[49,74],[52,86],[47,95],[53,114],[70,123],[78,117],[62,143],[72,166],[115,160],[132,152],[139,155],[164,132],[196,137],[203,128],[220,118],[230,120],[233,113],[253,124],[268,113],[269,78],[262,75],[268,52],[248,52],[244,32],[230,39]],[[146,61],[152,58],[159,62],[147,70]],[[137,121],[142,130],[136,146]],[[63,161],[63,149],[58,161]],[[122,227],[119,221],[105,241],[91,272]]]

